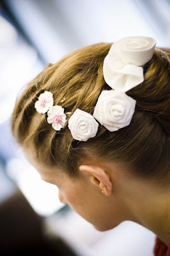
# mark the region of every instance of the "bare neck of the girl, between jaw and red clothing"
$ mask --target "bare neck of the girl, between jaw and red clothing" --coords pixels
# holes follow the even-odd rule
[[[133,179],[132,179],[133,180]],[[155,233],[167,246],[170,239],[170,189],[132,181],[125,199],[130,220]],[[126,191],[127,196],[127,191]],[[125,197],[126,197],[125,196]]]

